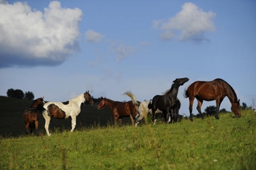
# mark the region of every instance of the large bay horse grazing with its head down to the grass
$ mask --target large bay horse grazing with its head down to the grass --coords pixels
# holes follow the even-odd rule
[[[204,118],[201,112],[201,106],[203,101],[216,100],[217,112],[215,118],[219,119],[220,104],[223,99],[227,96],[231,103],[231,110],[234,112],[236,117],[241,117],[241,106],[240,100],[237,100],[236,92],[225,80],[217,78],[210,82],[196,81],[188,86],[185,90],[186,98],[189,98],[189,112],[190,120],[193,121],[192,110],[194,99],[197,99],[197,111]]]

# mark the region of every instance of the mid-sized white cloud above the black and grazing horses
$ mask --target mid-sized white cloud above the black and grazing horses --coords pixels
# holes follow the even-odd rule
[[[164,32],[159,35],[162,40],[173,39],[179,34],[180,41],[205,41],[206,32],[215,30],[213,19],[216,14],[212,11],[204,12],[194,3],[185,3],[182,10],[168,20],[154,20],[156,29]]]

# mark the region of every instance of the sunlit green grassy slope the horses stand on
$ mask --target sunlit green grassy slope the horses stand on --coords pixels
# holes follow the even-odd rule
[[[1,137],[0,169],[256,169],[256,112],[233,116]]]

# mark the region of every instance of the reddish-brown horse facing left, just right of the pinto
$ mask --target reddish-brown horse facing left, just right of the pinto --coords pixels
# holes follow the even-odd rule
[[[131,117],[132,123],[134,123],[134,116],[137,114],[137,109],[132,101],[119,102],[101,97],[101,101],[97,107],[98,109],[103,109],[105,106],[109,107],[111,110],[115,124],[117,119],[119,123],[122,124],[122,117]]]

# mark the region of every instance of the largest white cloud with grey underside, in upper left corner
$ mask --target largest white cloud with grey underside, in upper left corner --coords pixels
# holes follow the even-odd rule
[[[0,1],[0,68],[58,65],[79,51],[80,9],[53,1],[44,13]]]

